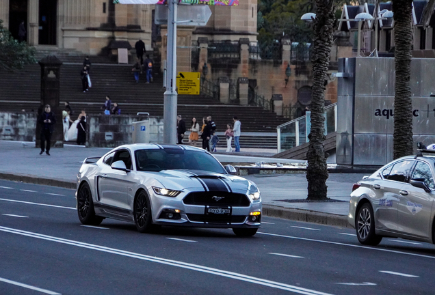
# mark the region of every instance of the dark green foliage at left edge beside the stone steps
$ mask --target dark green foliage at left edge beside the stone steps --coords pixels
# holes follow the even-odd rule
[[[20,69],[26,64],[34,63],[35,48],[12,38],[10,31],[3,27],[3,20],[0,19],[0,69]]]

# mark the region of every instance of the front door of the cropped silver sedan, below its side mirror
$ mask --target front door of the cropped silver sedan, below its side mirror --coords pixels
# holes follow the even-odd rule
[[[430,220],[435,197],[434,177],[430,165],[418,160],[410,179],[425,182],[431,192],[426,193],[423,188],[417,188],[410,183],[405,184],[399,198],[399,231],[412,236],[428,238],[432,228]]]

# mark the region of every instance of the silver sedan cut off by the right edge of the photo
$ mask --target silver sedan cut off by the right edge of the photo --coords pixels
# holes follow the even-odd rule
[[[434,242],[434,160],[399,158],[354,184],[348,219],[361,244],[382,237]]]

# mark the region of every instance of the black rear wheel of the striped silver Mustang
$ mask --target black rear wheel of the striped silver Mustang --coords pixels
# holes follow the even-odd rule
[[[82,184],[77,193],[77,214],[83,225],[99,225],[103,217],[96,216],[89,184]]]

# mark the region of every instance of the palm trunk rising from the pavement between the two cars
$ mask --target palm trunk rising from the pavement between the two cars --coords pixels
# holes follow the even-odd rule
[[[328,170],[326,169],[325,157],[325,89],[326,75],[334,33],[334,7],[332,0],[316,0],[316,18],[314,21],[314,44],[313,56],[313,92],[311,100],[311,132],[308,135],[310,143],[306,158],[308,167],[306,179],[308,180],[307,199],[328,199],[326,180]]]

